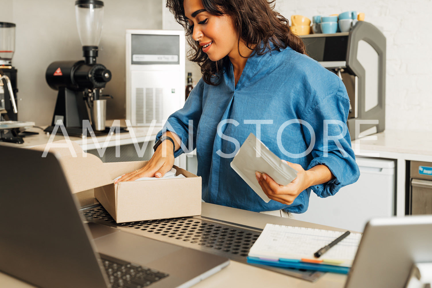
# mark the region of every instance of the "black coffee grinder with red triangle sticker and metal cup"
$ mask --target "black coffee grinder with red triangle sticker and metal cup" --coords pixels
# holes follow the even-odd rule
[[[111,72],[96,63],[98,45],[102,34],[104,3],[96,0],[75,1],[76,25],[83,45],[85,61],[56,61],[46,71],[48,85],[58,90],[57,102],[51,126],[45,131],[52,132],[58,120],[68,135],[89,134],[83,120],[88,120],[96,135],[106,134],[106,99],[102,95],[105,84],[111,80]],[[61,123],[58,122],[58,123]],[[61,133],[61,129],[57,130]]]

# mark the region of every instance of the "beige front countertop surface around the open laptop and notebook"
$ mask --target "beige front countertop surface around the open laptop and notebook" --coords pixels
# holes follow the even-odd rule
[[[229,221],[241,225],[264,228],[266,223],[292,225],[343,231],[338,228],[312,224],[294,219],[281,218],[241,209],[229,208],[209,203],[202,204],[202,216]],[[204,279],[194,285],[194,288],[220,288],[220,287],[299,287],[299,288],[342,288],[346,282],[346,275],[326,273],[316,282],[308,282],[299,278],[283,275],[266,269],[231,260],[228,267],[215,275]],[[0,272],[0,287],[7,288],[34,288],[35,286],[22,282],[16,278]]]

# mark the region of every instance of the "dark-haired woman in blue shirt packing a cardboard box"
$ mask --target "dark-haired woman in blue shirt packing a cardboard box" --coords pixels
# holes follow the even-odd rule
[[[174,157],[183,153],[181,143],[189,147],[189,120],[206,202],[289,217],[307,210],[311,190],[327,197],[358,179],[346,129],[345,86],[305,55],[302,40],[272,3],[167,1],[186,29],[193,48],[189,59],[200,65],[203,77],[157,135],[169,138],[156,143],[145,167],[121,181],[162,177],[170,170]],[[257,172],[257,181],[273,200],[268,203],[230,167],[250,133],[299,172],[286,186]]]

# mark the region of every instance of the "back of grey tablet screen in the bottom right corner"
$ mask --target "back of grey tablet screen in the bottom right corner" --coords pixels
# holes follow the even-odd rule
[[[345,288],[403,288],[416,262],[432,262],[432,215],[372,219]]]

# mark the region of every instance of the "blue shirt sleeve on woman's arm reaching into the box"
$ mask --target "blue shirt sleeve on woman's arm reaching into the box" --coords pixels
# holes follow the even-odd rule
[[[162,137],[162,134],[165,133],[165,131],[171,131],[180,137],[183,145],[188,149],[191,142],[189,139],[189,121],[192,120],[193,131],[191,131],[191,140],[193,149],[195,149],[198,122],[200,121],[203,110],[203,89],[204,81],[200,79],[187,97],[183,108],[169,116],[162,130],[156,135],[156,142]],[[175,151],[174,157],[177,157],[183,152],[183,149],[180,147]]]

